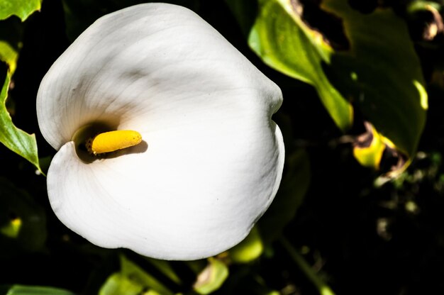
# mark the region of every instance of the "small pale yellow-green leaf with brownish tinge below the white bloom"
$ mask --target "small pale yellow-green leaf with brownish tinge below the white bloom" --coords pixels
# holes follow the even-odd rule
[[[199,294],[210,294],[219,289],[228,277],[228,267],[216,258],[208,259],[209,265],[197,277],[193,288]]]

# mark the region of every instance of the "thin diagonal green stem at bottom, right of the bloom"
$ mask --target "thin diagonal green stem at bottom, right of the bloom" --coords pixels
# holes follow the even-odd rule
[[[292,257],[293,261],[296,262],[296,265],[299,266],[299,269],[301,269],[301,271],[304,272],[306,277],[313,283],[313,285],[316,286],[319,294],[335,295],[330,287],[318,277],[313,268],[305,261],[304,257],[302,257],[302,255],[300,255],[299,252],[294,249],[293,245],[289,243],[286,238],[281,237],[279,238],[279,241],[281,242],[282,246],[284,246],[285,250],[287,250],[290,257]]]

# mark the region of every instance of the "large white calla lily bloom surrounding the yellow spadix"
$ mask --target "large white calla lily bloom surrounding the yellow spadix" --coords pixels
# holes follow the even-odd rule
[[[281,104],[279,87],[188,9],[140,4],[99,18],[38,91],[40,130],[57,150],[52,209],[101,247],[165,260],[223,252],[279,187]],[[141,143],[85,148],[114,130]]]

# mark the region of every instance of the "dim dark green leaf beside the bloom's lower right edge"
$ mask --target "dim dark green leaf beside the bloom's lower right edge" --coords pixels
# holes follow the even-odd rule
[[[287,155],[286,171],[270,208],[258,222],[264,243],[270,244],[282,234],[304,200],[310,184],[309,155],[303,149]]]

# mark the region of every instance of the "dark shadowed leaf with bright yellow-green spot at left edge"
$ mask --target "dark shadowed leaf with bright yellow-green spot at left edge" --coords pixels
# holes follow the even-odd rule
[[[42,250],[45,211],[21,189],[0,178],[0,257]]]

